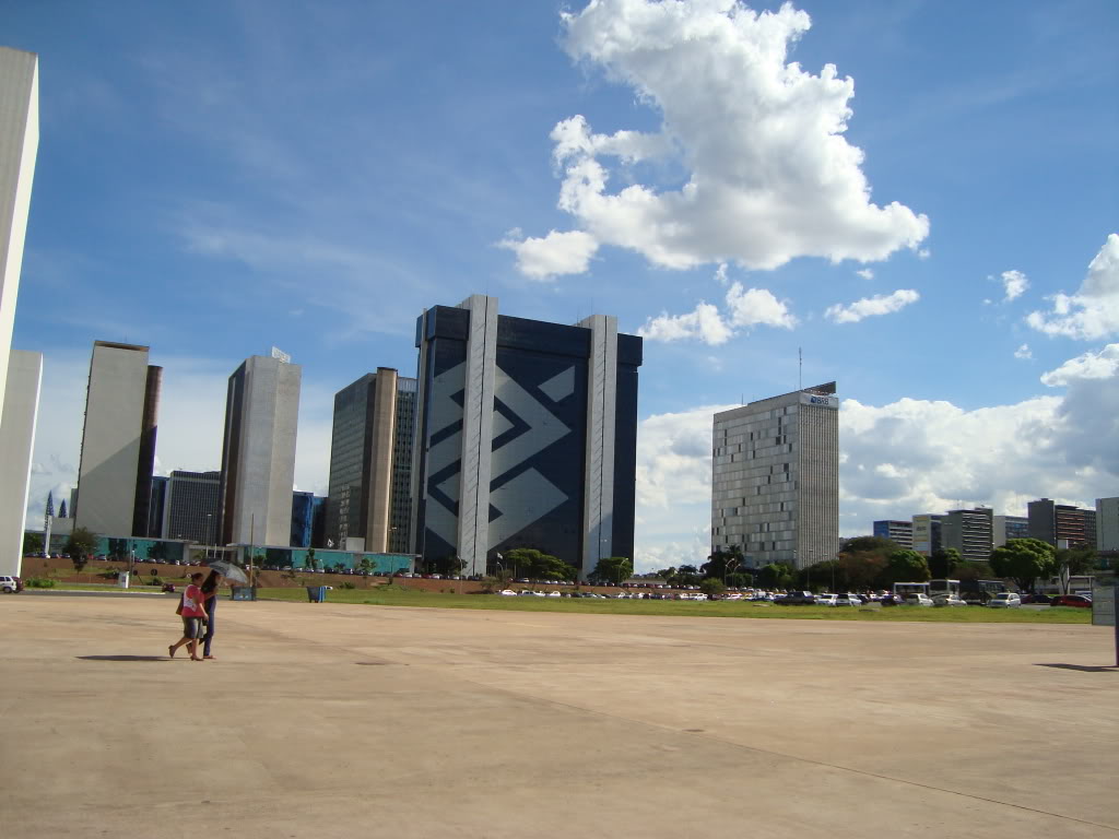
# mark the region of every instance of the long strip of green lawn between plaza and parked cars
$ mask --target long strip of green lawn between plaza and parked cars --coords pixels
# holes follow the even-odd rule
[[[305,588],[260,588],[262,600],[307,603]],[[375,590],[335,588],[329,603],[427,609],[493,609],[505,612],[580,612],[583,614],[687,615],[689,618],[792,618],[821,621],[921,621],[930,623],[1091,623],[1088,609],[949,609],[893,606],[853,609],[829,606],[774,606],[742,601],[696,602],[664,600],[591,600],[568,597],[501,597],[496,594],[442,594],[410,591],[398,585]],[[310,604],[309,604],[310,605]]]

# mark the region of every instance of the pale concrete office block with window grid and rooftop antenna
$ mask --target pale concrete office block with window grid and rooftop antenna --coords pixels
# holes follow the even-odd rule
[[[712,550],[737,545],[751,567],[803,568],[839,548],[836,384],[715,415]]]

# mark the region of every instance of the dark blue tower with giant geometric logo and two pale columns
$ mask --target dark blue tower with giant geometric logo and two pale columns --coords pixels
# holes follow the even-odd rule
[[[416,347],[415,553],[485,574],[536,548],[583,578],[633,557],[640,338],[601,314],[499,315],[476,294],[424,312]]]

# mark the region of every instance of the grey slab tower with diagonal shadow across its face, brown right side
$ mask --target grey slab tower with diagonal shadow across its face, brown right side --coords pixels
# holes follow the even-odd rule
[[[94,341],[82,431],[75,527],[147,536],[163,368],[148,347]]]

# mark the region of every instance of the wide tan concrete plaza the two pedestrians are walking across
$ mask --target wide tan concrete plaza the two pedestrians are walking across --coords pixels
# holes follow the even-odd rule
[[[1119,833],[1109,629],[172,612],[0,598],[7,839]]]

